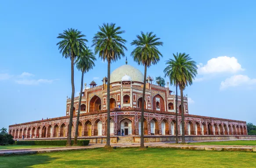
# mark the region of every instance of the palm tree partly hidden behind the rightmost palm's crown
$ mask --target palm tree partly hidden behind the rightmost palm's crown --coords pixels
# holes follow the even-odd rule
[[[166,61],[166,68],[164,69],[165,77],[168,76],[170,79],[170,84],[176,87],[176,101],[175,101],[175,112],[176,112],[176,123],[175,123],[175,134],[176,134],[176,144],[178,144],[178,82],[177,76],[179,75],[179,63],[177,60],[177,56],[173,53],[175,60],[169,59]]]

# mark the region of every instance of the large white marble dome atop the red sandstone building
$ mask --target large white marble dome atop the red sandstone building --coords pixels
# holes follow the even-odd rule
[[[130,65],[123,65],[116,68],[110,74],[110,83],[123,81],[122,78],[127,75],[131,81],[143,82],[144,75],[137,68]]]

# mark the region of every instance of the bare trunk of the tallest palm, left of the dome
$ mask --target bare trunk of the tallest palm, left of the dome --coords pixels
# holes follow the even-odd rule
[[[107,144],[105,145],[105,148],[111,147],[110,146],[110,61],[108,61],[107,109],[108,109]]]

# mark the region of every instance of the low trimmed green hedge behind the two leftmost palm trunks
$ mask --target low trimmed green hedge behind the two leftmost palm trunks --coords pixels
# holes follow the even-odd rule
[[[87,146],[90,140],[77,140],[78,146]],[[71,141],[71,144],[74,143],[74,140]],[[67,140],[22,140],[15,141],[16,145],[57,145],[57,146],[65,146],[67,144]]]

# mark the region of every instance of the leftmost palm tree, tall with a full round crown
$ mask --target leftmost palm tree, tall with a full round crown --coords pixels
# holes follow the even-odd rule
[[[85,42],[88,42],[85,39],[85,35],[77,29],[70,28],[65,30],[63,33],[59,33],[57,38],[61,38],[61,41],[57,43],[58,49],[62,56],[66,59],[71,59],[71,85],[72,85],[72,95],[71,95],[71,105],[69,113],[69,128],[68,128],[68,138],[66,146],[71,146],[71,130],[72,130],[72,119],[73,119],[73,106],[74,106],[74,60],[79,56],[79,53],[83,51],[86,47]]]

